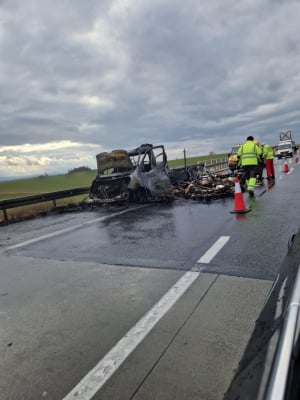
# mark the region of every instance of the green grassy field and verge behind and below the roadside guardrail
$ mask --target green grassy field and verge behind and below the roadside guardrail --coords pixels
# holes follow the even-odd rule
[[[215,160],[227,157],[227,154],[210,154],[207,156],[186,158],[186,165],[203,163],[205,160]],[[170,168],[184,166],[184,159],[169,160]],[[19,179],[13,181],[0,182],[0,201],[14,199],[17,197],[31,196],[56,192],[60,190],[89,187],[97,175],[97,170],[91,170],[86,167],[79,167],[68,171],[66,174],[49,176],[47,174],[30,179]],[[87,200],[88,195],[65,198],[56,201],[55,208],[60,209],[67,206],[78,205]],[[54,207],[53,202],[32,204],[23,207],[16,207],[7,210],[7,216],[10,221],[19,221],[33,215],[47,214]],[[0,210],[0,223],[3,221],[2,211]]]

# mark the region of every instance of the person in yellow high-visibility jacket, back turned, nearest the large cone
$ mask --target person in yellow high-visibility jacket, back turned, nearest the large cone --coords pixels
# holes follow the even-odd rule
[[[246,143],[238,150],[238,165],[243,167],[246,185],[250,197],[254,196],[254,186],[256,184],[257,165],[262,161],[262,151],[260,146],[254,143],[253,136],[248,136]]]

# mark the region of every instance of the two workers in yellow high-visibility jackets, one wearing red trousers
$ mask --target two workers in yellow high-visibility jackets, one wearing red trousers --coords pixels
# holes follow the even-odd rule
[[[256,182],[262,184],[263,169],[266,168],[267,179],[275,180],[274,153],[271,146],[260,145],[253,136],[248,136],[246,143],[240,146],[238,166],[244,170],[244,176],[250,197],[254,196]]]

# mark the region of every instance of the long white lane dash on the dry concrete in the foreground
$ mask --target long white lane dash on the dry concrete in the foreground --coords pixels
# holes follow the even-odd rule
[[[199,272],[186,272],[63,400],[90,400],[198,276]]]

